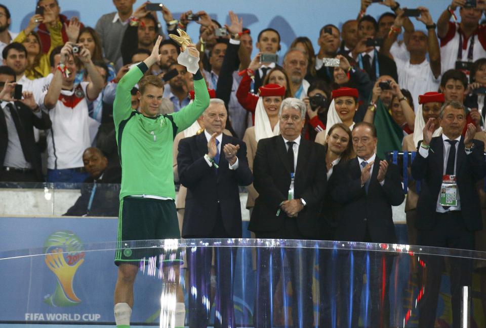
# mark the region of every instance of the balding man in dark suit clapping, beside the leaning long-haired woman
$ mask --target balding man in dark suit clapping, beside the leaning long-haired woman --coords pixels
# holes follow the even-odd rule
[[[341,167],[337,166],[333,173],[336,174],[333,197],[343,206],[336,240],[395,243],[391,206],[400,205],[405,197],[398,168],[376,156],[377,134],[373,124],[357,123],[352,131],[352,142],[357,157]],[[390,323],[388,279],[393,259],[384,253],[356,252],[349,260],[340,259],[343,268],[342,297],[338,298],[342,302],[341,322],[348,322],[351,317],[351,327],[358,326],[362,277],[366,267],[365,257],[368,256],[371,326],[386,328]],[[352,295],[352,301],[345,303],[349,295]]]

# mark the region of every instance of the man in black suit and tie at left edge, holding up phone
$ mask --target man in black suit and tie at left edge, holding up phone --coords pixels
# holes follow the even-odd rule
[[[35,103],[32,92],[13,99],[15,72],[0,66],[0,181],[44,181],[41,152],[35,143],[33,127],[51,128],[49,115]]]

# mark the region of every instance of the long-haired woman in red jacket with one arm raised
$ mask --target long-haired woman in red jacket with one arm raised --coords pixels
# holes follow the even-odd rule
[[[257,54],[255,58],[253,58],[250,66],[248,69],[241,71],[243,74],[243,78],[239,83],[238,90],[236,91],[236,98],[238,98],[238,102],[240,105],[245,108],[247,111],[252,113],[252,121],[255,123],[255,108],[257,106],[259,96],[252,93],[252,82],[253,76],[255,75],[255,70],[260,67],[260,54]],[[267,75],[263,79],[263,85],[267,84],[278,84],[285,88],[285,98],[292,97],[292,81],[289,78],[289,75],[280,66],[276,66],[275,68],[270,69],[267,72]]]

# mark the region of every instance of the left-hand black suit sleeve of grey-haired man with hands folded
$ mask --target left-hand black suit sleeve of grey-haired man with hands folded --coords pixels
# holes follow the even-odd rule
[[[278,208],[280,203],[287,200],[287,197],[282,195],[280,190],[273,183],[272,171],[269,163],[269,151],[267,149],[268,142],[258,142],[257,153],[255,161],[253,162],[253,186],[257,190],[259,197],[269,206]],[[275,154],[275,151],[270,151],[270,154]]]

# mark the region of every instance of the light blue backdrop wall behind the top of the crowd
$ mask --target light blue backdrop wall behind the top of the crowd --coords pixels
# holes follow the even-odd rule
[[[155,2],[155,1],[153,1]],[[193,12],[205,10],[212,18],[220,23],[229,22],[228,11],[233,10],[243,18],[244,26],[252,30],[254,43],[258,32],[266,27],[277,29],[282,37],[282,49],[280,57],[287,51],[295,37],[306,36],[314,44],[318,51],[317,38],[319,29],[325,24],[341,26],[348,19],[356,18],[359,12],[359,0],[306,0],[306,1],[277,1],[277,0],[246,0],[241,2],[210,0],[206,2],[196,0],[186,1],[162,1],[172,13],[174,18],[179,18],[180,13],[192,10]],[[7,0],[2,1],[12,14],[11,30],[20,31],[27,25],[29,18],[34,13],[36,1],[34,0]],[[134,9],[143,4],[144,1],[137,0]],[[429,8],[434,21],[437,21],[441,12],[451,3],[450,0],[400,0],[401,7],[416,8],[425,6]],[[68,17],[73,15],[80,17],[80,20],[87,26],[94,27],[98,18],[106,13],[115,11],[111,0],[59,0],[61,12]],[[372,4],[368,13],[378,18],[388,7],[379,4]],[[159,20],[163,18],[159,14]],[[412,21],[416,22],[415,19]],[[418,24],[417,24],[418,23]],[[165,24],[163,24],[165,25]],[[416,22],[416,28],[423,29],[421,22]],[[165,26],[164,26],[165,28]],[[189,24],[188,32],[192,39],[198,36],[199,25]],[[254,55],[256,50],[254,49]]]

